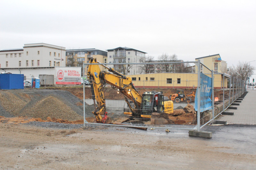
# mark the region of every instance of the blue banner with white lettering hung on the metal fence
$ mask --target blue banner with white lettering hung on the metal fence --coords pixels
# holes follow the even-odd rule
[[[195,97],[195,110],[197,111],[197,90]],[[212,109],[212,78],[200,73],[200,112]]]

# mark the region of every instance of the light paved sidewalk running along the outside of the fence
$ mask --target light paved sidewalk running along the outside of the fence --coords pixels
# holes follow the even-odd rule
[[[237,110],[227,109],[225,112],[234,112],[234,115],[222,115],[219,120],[229,124],[256,125],[256,89],[248,89],[248,93],[240,103]]]

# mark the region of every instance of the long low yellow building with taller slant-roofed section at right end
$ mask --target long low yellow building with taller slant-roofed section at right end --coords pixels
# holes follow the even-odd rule
[[[227,80],[230,76],[227,74],[227,63],[222,61],[220,55],[209,55],[205,57],[196,58],[202,64],[213,70],[214,73],[214,89],[227,88]],[[196,67],[196,66],[195,66]],[[130,75],[132,83],[139,88],[197,88],[197,67],[196,73],[151,73]],[[205,75],[212,77],[211,71],[200,66],[200,71]]]

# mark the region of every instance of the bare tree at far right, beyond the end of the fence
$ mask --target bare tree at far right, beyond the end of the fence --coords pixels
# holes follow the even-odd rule
[[[229,67],[228,74],[233,77],[240,78],[242,80],[247,80],[255,70],[255,67],[249,66],[248,62],[238,62],[236,66],[232,65]]]

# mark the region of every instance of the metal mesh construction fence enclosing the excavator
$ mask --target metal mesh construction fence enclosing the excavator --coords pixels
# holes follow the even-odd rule
[[[200,131],[246,91],[243,80],[200,60],[84,63],[86,69],[90,85],[83,85],[84,125],[103,124],[108,116],[111,126]]]

